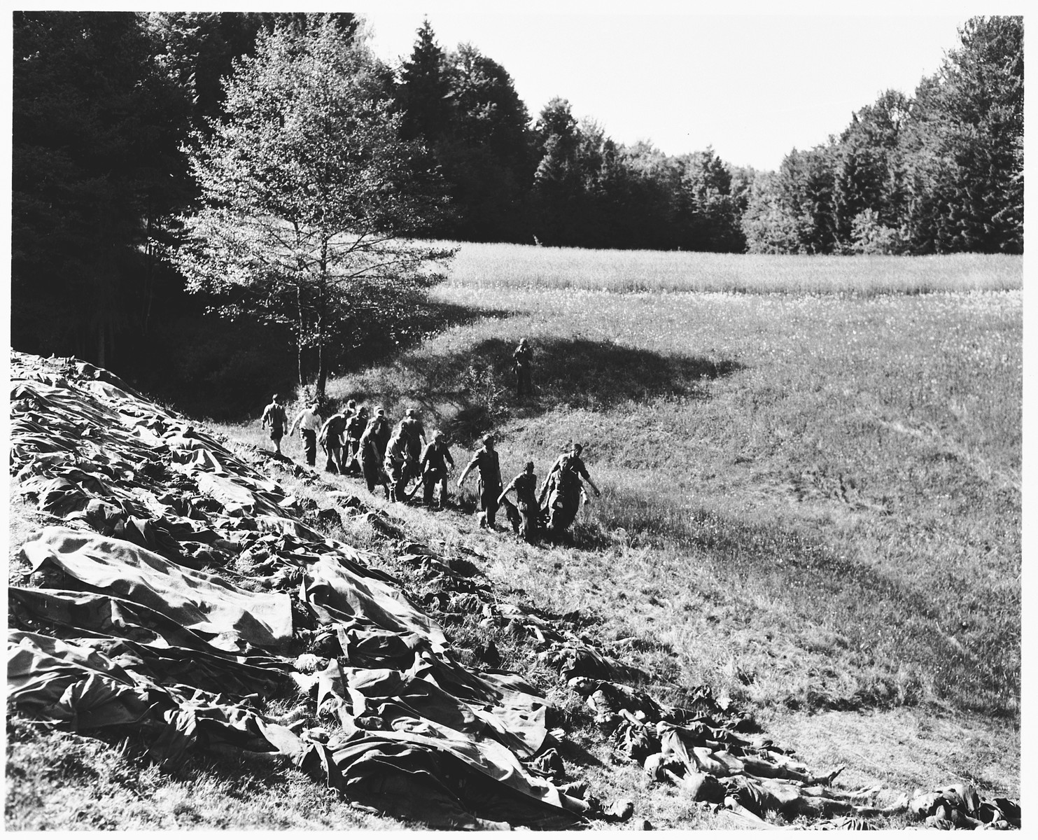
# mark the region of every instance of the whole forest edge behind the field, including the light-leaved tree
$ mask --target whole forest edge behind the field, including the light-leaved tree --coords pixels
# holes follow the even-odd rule
[[[398,250],[373,274],[402,238],[1023,249],[1019,17],[971,19],[913,96],[884,92],[774,172],[617,143],[565,99],[534,117],[504,67],[443,49],[429,21],[392,67],[351,13],[15,12],[12,61],[12,346],[170,398],[190,383],[234,403],[327,376],[328,346],[406,337],[392,302],[448,253]],[[276,224],[231,229],[243,213]],[[217,239],[226,253],[199,244]]]

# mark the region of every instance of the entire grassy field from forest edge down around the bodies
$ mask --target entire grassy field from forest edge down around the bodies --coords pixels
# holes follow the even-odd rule
[[[465,245],[433,292],[441,317],[425,341],[332,381],[330,397],[394,418],[422,408],[428,431],[450,432],[459,472],[488,430],[506,480],[527,458],[543,475],[579,440],[601,498],[574,545],[531,547],[475,526],[471,480],[460,508],[435,514],[332,481],[444,554],[475,552],[501,598],[578,611],[662,699],[709,683],[812,766],[846,763],[847,786],[968,781],[1018,795],[1021,284],[1012,258]],[[517,401],[522,336],[536,392]],[[269,448],[256,421],[219,428],[245,451]],[[284,449],[301,460],[298,440]],[[361,520],[335,536],[374,538]],[[474,624],[448,631],[462,647],[482,641]],[[502,667],[550,689],[536,657],[498,643]],[[588,721],[548,696],[579,742]],[[725,828],[590,735],[584,747],[581,778],[633,798],[657,828]],[[84,761],[92,775],[32,777],[20,795],[63,783],[111,797],[110,774]],[[173,780],[171,816],[152,824],[231,824],[227,778],[217,764]],[[378,824],[335,803],[293,808],[309,802],[303,783],[270,781],[284,808],[234,824]],[[67,814],[21,828],[56,825],[104,828]]]

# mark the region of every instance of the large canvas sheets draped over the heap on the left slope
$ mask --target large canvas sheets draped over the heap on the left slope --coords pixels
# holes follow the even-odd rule
[[[459,665],[373,556],[313,531],[276,482],[106,373],[12,354],[11,472],[64,523],[22,546],[35,585],[10,590],[20,713],[136,727],[169,762],[218,744],[279,753],[433,827],[569,828],[590,812],[523,765],[548,741],[534,688]],[[321,633],[334,650],[297,670]],[[330,740],[262,712],[286,690]]]

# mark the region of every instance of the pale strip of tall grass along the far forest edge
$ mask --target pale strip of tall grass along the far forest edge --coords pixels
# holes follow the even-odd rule
[[[1016,290],[1022,259],[774,256],[683,251],[605,251],[468,243],[449,283],[473,289],[750,294],[923,294]]]

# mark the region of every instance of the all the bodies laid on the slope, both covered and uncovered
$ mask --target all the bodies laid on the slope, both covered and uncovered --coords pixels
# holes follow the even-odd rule
[[[21,716],[133,730],[160,762],[279,755],[358,806],[433,828],[628,819],[630,803],[603,804],[567,775],[566,733],[549,729],[537,689],[461,663],[436,616],[464,613],[534,645],[619,755],[744,820],[855,825],[908,809],[941,827],[1019,825],[1015,803],[965,786],[892,802],[838,790],[839,768],[813,774],[708,688],[658,703],[624,684],[634,669],[500,602],[355,499],[323,512],[397,538],[419,602],[374,553],[307,525],[277,482],[107,371],[13,353],[11,415],[15,484],[52,520],[21,546],[29,570],[9,588],[8,702]],[[298,703],[272,715],[275,698]]]

